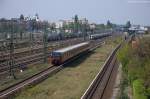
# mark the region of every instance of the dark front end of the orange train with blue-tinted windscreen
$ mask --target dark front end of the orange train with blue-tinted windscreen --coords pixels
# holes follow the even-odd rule
[[[61,64],[61,53],[53,51],[51,53],[51,63],[55,66]]]

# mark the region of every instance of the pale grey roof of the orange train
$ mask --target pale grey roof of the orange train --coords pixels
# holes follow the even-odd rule
[[[54,51],[54,52],[64,53],[64,52],[67,52],[67,51],[72,50],[72,49],[74,49],[74,48],[78,48],[78,47],[80,47],[80,46],[86,45],[86,44],[88,44],[88,43],[89,43],[89,42],[84,42],[84,43],[72,45],[72,46],[69,46],[69,47],[66,47],[66,48],[62,48],[62,49],[56,50],[56,51]]]

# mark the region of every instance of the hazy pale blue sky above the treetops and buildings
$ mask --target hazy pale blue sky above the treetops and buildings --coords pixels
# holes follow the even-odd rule
[[[150,25],[150,0],[0,0],[0,18],[15,18],[20,14],[58,21],[75,14],[90,22]]]

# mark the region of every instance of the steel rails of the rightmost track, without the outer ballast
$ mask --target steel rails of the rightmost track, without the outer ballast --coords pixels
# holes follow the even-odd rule
[[[94,80],[91,82],[88,89],[82,95],[81,99],[101,99],[104,94],[104,89],[109,81],[109,76],[114,68],[116,62],[115,55],[117,50],[121,47],[119,44],[110,54],[110,56],[105,61],[104,65],[100,69],[99,73],[96,75]],[[105,81],[104,81],[105,80]],[[97,91],[99,89],[99,91]],[[97,97],[97,98],[94,98]]]

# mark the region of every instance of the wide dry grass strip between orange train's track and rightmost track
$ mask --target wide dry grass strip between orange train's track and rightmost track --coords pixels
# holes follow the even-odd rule
[[[15,99],[79,99],[116,44],[108,40],[42,83],[25,89]]]

